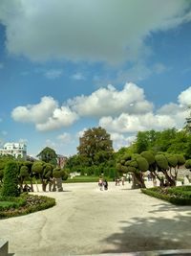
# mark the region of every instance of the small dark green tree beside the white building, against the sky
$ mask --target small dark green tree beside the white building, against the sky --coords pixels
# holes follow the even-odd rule
[[[57,154],[49,147],[46,147],[44,150],[40,151],[36,156],[45,163],[50,163],[54,166],[57,164]]]

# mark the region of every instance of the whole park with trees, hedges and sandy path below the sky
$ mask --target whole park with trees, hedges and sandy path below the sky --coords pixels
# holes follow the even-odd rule
[[[1,156],[2,255],[190,253],[190,135],[172,128],[152,142],[151,134],[114,152],[105,129],[89,129],[63,168],[50,148],[33,162]],[[167,151],[153,151],[162,136]],[[169,151],[182,136],[185,153]]]

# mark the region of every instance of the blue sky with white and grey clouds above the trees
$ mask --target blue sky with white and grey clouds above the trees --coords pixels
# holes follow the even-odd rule
[[[182,128],[191,105],[191,3],[0,0],[0,146],[73,155],[101,126]]]

